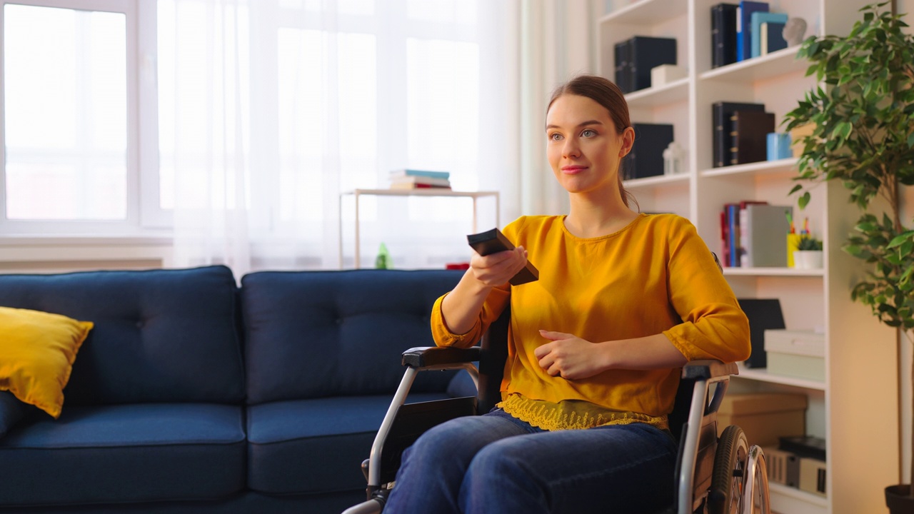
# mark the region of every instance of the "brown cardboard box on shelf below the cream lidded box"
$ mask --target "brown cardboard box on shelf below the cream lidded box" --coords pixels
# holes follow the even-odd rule
[[[777,446],[782,435],[806,434],[806,395],[787,392],[728,393],[717,410],[717,432],[739,425],[749,444]]]

